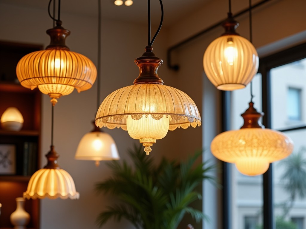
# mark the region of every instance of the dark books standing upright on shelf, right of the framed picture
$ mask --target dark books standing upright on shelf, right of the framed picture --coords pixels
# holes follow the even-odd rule
[[[37,143],[24,142],[23,176],[31,176],[37,170]]]

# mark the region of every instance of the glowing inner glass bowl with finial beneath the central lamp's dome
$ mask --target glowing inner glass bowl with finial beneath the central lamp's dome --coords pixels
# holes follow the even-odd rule
[[[126,128],[129,136],[139,139],[143,144],[144,151],[149,155],[152,151],[151,146],[157,139],[166,136],[169,129],[170,116],[162,115],[162,118],[156,120],[152,115],[142,115],[138,120],[134,120],[131,115],[126,119]]]

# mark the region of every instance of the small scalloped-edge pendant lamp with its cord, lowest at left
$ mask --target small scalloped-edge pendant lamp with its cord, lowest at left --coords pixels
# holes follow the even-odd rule
[[[48,163],[31,176],[27,191],[23,193],[23,197],[27,199],[78,199],[80,197],[70,174],[61,169],[57,163],[59,155],[53,145],[53,114],[54,105],[52,105],[51,146],[46,154]]]

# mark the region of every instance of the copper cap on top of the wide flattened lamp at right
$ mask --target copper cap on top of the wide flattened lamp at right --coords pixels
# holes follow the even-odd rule
[[[244,124],[240,129],[244,128],[264,128],[264,125],[260,122],[260,118],[263,117],[263,112],[258,112],[254,108],[254,103],[249,103],[249,108],[241,115],[244,119]]]

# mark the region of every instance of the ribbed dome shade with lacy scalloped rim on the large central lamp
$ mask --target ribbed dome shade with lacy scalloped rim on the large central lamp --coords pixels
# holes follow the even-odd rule
[[[159,84],[137,84],[114,91],[100,105],[95,123],[99,127],[127,130],[127,115],[134,120],[142,115],[152,115],[155,120],[170,115],[170,130],[201,125],[200,112],[186,93]]]

